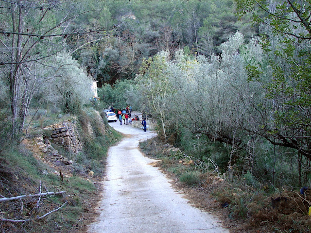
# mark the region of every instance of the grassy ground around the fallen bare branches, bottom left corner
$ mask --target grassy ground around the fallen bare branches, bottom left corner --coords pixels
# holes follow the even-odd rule
[[[0,222],[1,232],[59,232],[67,233],[82,218],[88,208],[87,201],[95,195],[95,186],[80,177],[73,176],[61,182],[59,177],[44,164],[35,160],[24,148],[12,147],[0,157],[0,194],[4,197],[41,192],[66,191],[65,195],[23,198],[1,202],[0,217],[28,219],[43,216],[54,208],[67,204],[40,220],[24,223]],[[38,204],[38,206],[37,206]],[[22,210],[22,211],[21,211]]]

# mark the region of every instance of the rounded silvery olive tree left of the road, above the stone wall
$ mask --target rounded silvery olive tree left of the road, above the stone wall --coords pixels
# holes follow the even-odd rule
[[[41,70],[45,73],[39,80],[40,88],[35,94],[37,100],[44,99],[64,112],[77,113],[94,95],[92,78],[68,52],[51,56]]]

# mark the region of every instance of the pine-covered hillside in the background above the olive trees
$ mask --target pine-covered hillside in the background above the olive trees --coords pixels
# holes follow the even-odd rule
[[[75,26],[87,30],[118,27],[107,38],[88,34],[67,38],[73,57],[102,86],[133,79],[142,58],[161,50],[172,54],[185,49],[189,54],[210,56],[228,36],[239,31],[245,39],[258,33],[247,17],[239,20],[233,0],[106,0],[89,1],[93,10],[75,19]],[[89,43],[81,49],[80,45]]]

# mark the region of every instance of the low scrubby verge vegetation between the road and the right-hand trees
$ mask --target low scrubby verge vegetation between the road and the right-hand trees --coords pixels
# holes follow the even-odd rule
[[[228,172],[221,172],[225,167],[164,143],[157,137],[140,142],[139,147],[146,156],[160,160],[156,166],[168,174],[175,188],[185,191],[192,205],[225,215],[222,218],[230,231],[310,232],[310,190],[301,195],[297,188],[275,187],[249,172],[229,179]]]

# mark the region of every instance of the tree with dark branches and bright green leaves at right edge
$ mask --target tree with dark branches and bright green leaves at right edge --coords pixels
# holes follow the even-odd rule
[[[249,79],[258,82],[273,101],[272,124],[259,133],[274,145],[297,150],[311,159],[311,2],[236,0],[240,14],[251,13],[254,21],[268,25],[261,46],[271,64],[247,66]],[[269,76],[269,79],[264,79]]]

